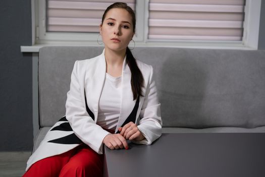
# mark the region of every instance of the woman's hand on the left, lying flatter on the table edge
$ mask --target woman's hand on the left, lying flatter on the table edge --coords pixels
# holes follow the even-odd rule
[[[121,134],[109,134],[103,139],[103,144],[111,150],[129,149],[126,139]]]

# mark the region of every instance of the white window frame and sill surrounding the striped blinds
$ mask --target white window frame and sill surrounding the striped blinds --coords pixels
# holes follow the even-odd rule
[[[98,33],[46,32],[45,0],[31,0],[32,4],[32,44],[37,51],[47,45],[98,46]],[[173,47],[204,49],[246,49],[256,50],[261,0],[246,0],[244,32],[242,41],[222,40],[155,40],[148,39],[148,4],[149,0],[136,0],[136,35],[137,47]],[[255,20],[251,20],[255,19]],[[22,52],[32,48],[21,47]]]

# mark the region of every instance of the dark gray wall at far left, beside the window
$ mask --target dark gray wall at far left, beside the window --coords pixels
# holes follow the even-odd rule
[[[0,1],[0,151],[32,149],[31,1]]]

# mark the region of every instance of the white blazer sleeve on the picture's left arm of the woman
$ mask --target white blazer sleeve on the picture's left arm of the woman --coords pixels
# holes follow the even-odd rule
[[[98,154],[102,154],[102,141],[110,134],[102,129],[89,116],[85,107],[84,82],[80,76],[78,61],[74,64],[71,75],[70,91],[67,93],[66,119],[69,121],[75,135]]]

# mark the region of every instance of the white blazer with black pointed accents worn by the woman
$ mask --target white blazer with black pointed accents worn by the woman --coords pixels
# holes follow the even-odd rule
[[[136,60],[144,78],[143,97],[133,100],[131,71],[124,59],[122,68],[121,111],[116,131],[132,121],[145,137],[140,144],[150,145],[162,134],[161,104],[158,102],[153,68]],[[101,55],[76,61],[67,93],[66,115],[50,128],[27,162],[26,170],[36,161],[67,152],[81,143],[102,154],[102,141],[109,134],[96,124],[98,102],[105,80],[106,62]]]

